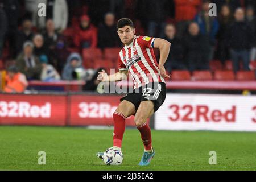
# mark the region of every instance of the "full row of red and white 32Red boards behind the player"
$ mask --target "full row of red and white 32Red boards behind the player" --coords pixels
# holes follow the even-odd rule
[[[0,94],[0,125],[109,126],[120,98],[115,94]],[[150,125],[156,130],[256,131],[256,96],[168,93]],[[134,117],[126,119],[126,126],[134,126]]]

